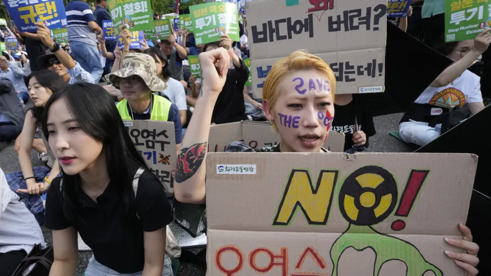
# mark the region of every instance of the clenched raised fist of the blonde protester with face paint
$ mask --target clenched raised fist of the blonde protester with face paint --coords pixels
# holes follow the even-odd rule
[[[233,55],[232,50],[227,51],[221,47],[199,55],[203,95],[221,92],[227,80],[228,67]]]

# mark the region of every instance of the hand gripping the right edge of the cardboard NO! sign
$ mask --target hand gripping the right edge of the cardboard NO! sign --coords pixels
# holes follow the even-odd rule
[[[477,257],[479,246],[472,242],[472,234],[469,227],[459,224],[459,230],[462,232],[462,239],[445,238],[445,242],[450,246],[464,249],[465,253],[445,250],[445,255],[453,259],[460,268],[464,269],[467,276],[475,276],[478,273],[475,267],[479,264],[479,258]]]

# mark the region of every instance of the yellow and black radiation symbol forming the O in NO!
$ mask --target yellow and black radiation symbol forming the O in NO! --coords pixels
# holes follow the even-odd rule
[[[364,166],[350,174],[339,192],[339,210],[355,225],[373,225],[385,220],[397,202],[397,183],[379,166]]]

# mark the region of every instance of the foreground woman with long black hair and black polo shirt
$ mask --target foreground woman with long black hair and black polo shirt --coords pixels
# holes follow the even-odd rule
[[[42,124],[61,165],[46,199],[55,254],[50,275],[75,274],[77,232],[94,252],[85,276],[172,275],[165,238],[173,216],[164,185],[104,88],[76,83],[61,89]]]

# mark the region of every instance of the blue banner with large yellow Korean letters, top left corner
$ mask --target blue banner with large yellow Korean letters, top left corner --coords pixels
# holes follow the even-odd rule
[[[3,0],[10,18],[19,31],[37,30],[34,23],[43,22],[50,29],[66,28],[63,0]]]

